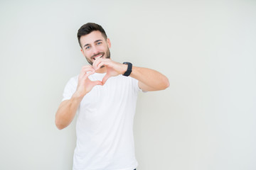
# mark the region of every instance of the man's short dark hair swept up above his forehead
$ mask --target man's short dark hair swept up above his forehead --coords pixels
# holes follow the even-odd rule
[[[97,23],[85,23],[85,25],[81,26],[78,30],[78,42],[80,47],[82,47],[80,43],[80,38],[82,35],[87,35],[92,33],[94,30],[99,30],[100,33],[102,33],[102,36],[107,40],[107,34],[105,33],[105,30]]]

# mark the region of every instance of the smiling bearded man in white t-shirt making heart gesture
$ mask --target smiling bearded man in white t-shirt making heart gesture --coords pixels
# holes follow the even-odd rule
[[[90,65],[68,81],[55,115],[58,129],[78,111],[74,170],[134,170],[133,120],[138,91],[158,91],[169,80],[153,69],[110,59],[110,39],[96,23],[78,30],[82,55]]]

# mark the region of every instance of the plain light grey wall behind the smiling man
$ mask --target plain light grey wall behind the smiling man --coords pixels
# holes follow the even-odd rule
[[[139,94],[139,170],[256,169],[256,1],[1,1],[0,169],[68,170],[75,122],[55,128],[76,39],[100,23],[112,59],[159,70]]]

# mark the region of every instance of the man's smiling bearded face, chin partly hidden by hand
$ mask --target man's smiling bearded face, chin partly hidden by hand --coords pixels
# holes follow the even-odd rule
[[[110,58],[110,39],[107,38],[105,40],[102,33],[98,30],[92,31],[92,33],[87,35],[82,35],[80,44],[82,46],[82,54],[91,65],[97,58]]]

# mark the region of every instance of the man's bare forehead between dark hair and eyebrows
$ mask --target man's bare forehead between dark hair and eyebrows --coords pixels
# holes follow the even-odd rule
[[[82,35],[81,38],[80,38],[80,42],[81,42],[82,47],[85,44],[92,44],[96,40],[105,40],[105,38],[102,36],[102,33],[100,33],[99,30],[94,30],[90,34]]]

